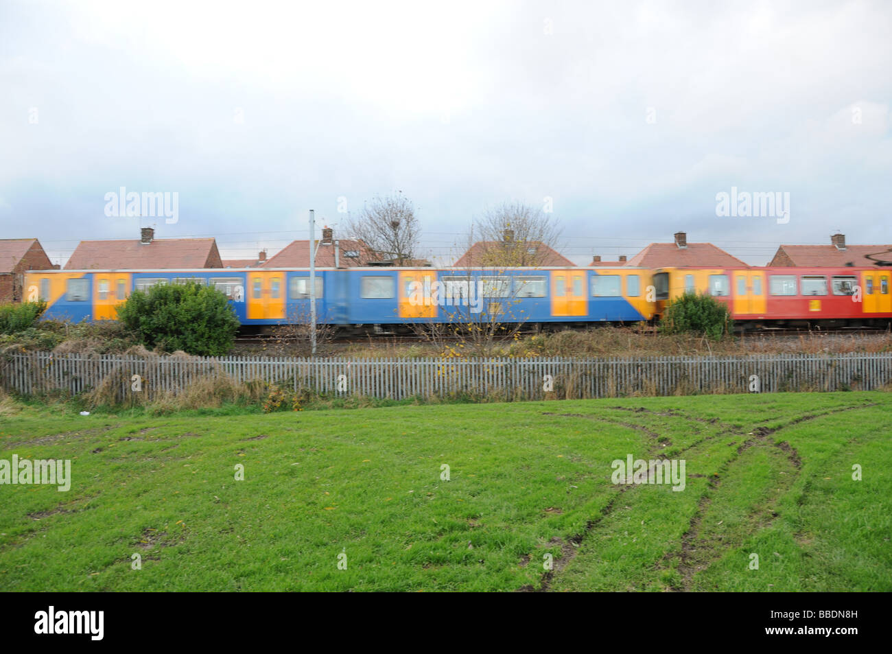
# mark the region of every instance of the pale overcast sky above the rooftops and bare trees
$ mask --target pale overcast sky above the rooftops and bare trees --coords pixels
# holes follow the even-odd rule
[[[401,191],[428,257],[546,198],[581,264],[677,230],[760,265],[888,244],[890,35],[889,2],[0,0],[0,238],[64,261],[142,221],[252,257]],[[121,186],[178,222],[106,216]],[[717,217],[732,186],[789,222]]]

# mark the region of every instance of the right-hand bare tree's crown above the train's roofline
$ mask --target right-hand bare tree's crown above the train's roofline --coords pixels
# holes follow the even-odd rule
[[[468,249],[467,263],[485,267],[555,265],[560,229],[552,215],[528,204],[512,202],[483,212],[474,221],[479,239]]]

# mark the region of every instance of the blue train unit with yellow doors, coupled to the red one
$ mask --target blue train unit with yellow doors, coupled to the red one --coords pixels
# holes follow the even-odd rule
[[[309,269],[40,270],[26,275],[26,297],[47,302],[47,319],[105,320],[115,319],[135,290],[190,281],[226,294],[245,326],[302,322],[310,314]],[[476,302],[477,316],[632,323],[654,314],[650,284],[646,269],[318,269],[316,309],[319,322],[339,326],[455,322],[468,318],[467,307],[444,301],[445,289],[473,286],[466,301]]]

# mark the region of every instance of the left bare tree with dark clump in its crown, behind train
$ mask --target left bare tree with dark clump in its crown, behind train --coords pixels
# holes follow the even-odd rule
[[[376,196],[366,203],[359,217],[347,220],[347,231],[378,257],[392,260],[396,266],[411,266],[415,262],[421,230],[412,201],[401,192]]]

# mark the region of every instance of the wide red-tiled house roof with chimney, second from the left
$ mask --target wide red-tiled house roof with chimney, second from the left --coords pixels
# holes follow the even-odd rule
[[[142,228],[139,239],[81,241],[66,270],[128,270],[222,268],[213,238],[159,238]]]

